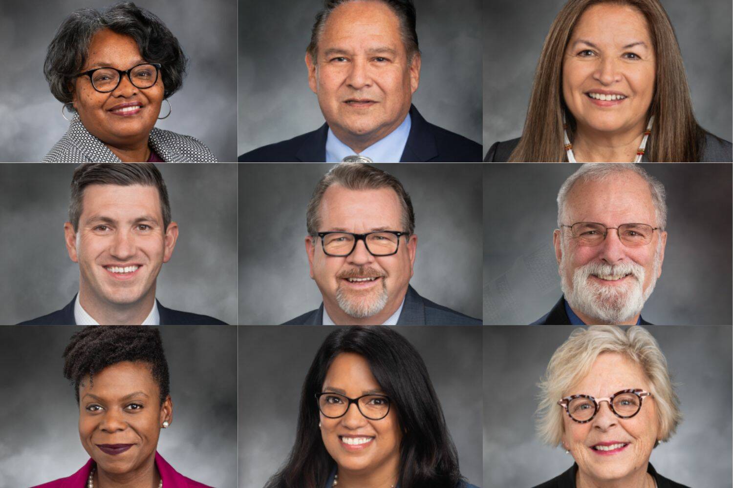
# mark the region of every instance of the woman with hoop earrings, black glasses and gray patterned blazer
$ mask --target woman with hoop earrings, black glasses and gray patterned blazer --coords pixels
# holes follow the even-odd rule
[[[201,141],[154,127],[187,61],[161,19],[130,1],[73,12],[43,67],[71,123],[43,162],[216,162]]]

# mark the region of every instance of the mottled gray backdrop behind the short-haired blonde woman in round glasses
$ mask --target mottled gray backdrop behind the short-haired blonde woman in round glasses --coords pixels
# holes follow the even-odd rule
[[[685,486],[730,487],[730,326],[647,330],[667,358],[683,416],[677,433],[652,451],[650,462],[660,475]],[[537,383],[571,331],[572,326],[485,327],[483,488],[534,487],[572,465],[570,455],[545,446],[534,433]]]

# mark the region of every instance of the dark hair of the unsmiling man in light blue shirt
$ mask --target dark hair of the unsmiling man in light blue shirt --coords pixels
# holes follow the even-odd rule
[[[328,16],[331,12],[334,12],[336,7],[339,5],[346,4],[354,0],[324,0],[323,9],[317,13],[316,21],[313,24],[311,31],[311,42],[306,49],[312,59],[318,57],[318,41],[320,40],[321,34],[323,34],[323,28],[325,21],[328,20]],[[381,1],[386,4],[387,7],[391,8],[394,15],[397,15],[399,19],[399,34],[402,36],[402,44],[405,45],[405,51],[408,53],[408,61],[411,63],[416,54],[420,53],[420,47],[417,42],[417,13],[415,11],[415,5],[412,0],[375,0]]]

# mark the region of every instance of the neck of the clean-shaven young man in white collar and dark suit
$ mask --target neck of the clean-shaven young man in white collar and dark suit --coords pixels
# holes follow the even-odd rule
[[[84,283],[79,283],[79,304],[102,326],[139,326],[155,304],[155,284],[135,303],[121,305],[100,299]]]

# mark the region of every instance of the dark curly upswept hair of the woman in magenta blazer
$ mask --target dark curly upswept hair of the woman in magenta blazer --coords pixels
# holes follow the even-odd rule
[[[74,383],[79,402],[79,383],[122,361],[150,363],[152,378],[161,390],[161,404],[170,393],[168,361],[163,353],[161,332],[147,326],[89,326],[73,336],[64,351],[64,378]]]

